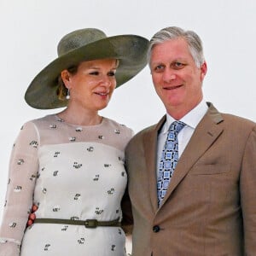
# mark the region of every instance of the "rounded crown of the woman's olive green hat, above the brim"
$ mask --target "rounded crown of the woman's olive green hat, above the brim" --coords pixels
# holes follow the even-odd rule
[[[61,38],[58,44],[58,56],[66,55],[73,49],[78,49],[86,44],[91,44],[103,38],[107,38],[106,34],[96,28],[84,28],[68,33]]]

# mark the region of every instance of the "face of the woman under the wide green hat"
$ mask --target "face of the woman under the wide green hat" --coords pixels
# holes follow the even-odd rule
[[[115,59],[102,59],[81,62],[75,74],[64,70],[61,78],[70,90],[68,106],[79,105],[92,111],[106,108],[116,87],[117,66]]]

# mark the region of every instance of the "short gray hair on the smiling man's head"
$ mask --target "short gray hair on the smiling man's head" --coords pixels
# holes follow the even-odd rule
[[[151,52],[155,44],[161,44],[168,40],[177,38],[183,38],[188,43],[189,51],[195,61],[196,67],[201,67],[205,61],[201,38],[195,32],[184,31],[182,28],[177,26],[163,28],[154,34],[149,44],[148,62],[151,59]]]

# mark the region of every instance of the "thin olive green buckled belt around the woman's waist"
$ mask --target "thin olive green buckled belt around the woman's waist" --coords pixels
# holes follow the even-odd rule
[[[109,220],[109,221],[99,221],[96,219],[75,220],[75,219],[64,219],[64,218],[36,218],[34,220],[34,223],[83,225],[87,229],[94,229],[96,227],[120,227],[121,226],[121,223],[119,222],[119,218]]]

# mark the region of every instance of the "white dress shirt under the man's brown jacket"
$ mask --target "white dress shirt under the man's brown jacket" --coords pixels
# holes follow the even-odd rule
[[[177,143],[178,143],[178,157],[183,154],[184,149],[186,148],[187,144],[189,143],[190,138],[192,137],[195,127],[199,124],[203,116],[207,113],[207,102],[204,100],[201,101],[195,108],[193,108],[189,113],[183,116],[180,121],[186,124],[183,129],[177,134]],[[158,135],[158,143],[157,143],[157,168],[156,174],[158,177],[158,166],[160,165],[160,157],[164,145],[166,143],[166,137],[168,133],[168,129],[172,122],[176,121],[173,119],[172,116],[166,113],[166,123],[163,125],[160,133]]]

